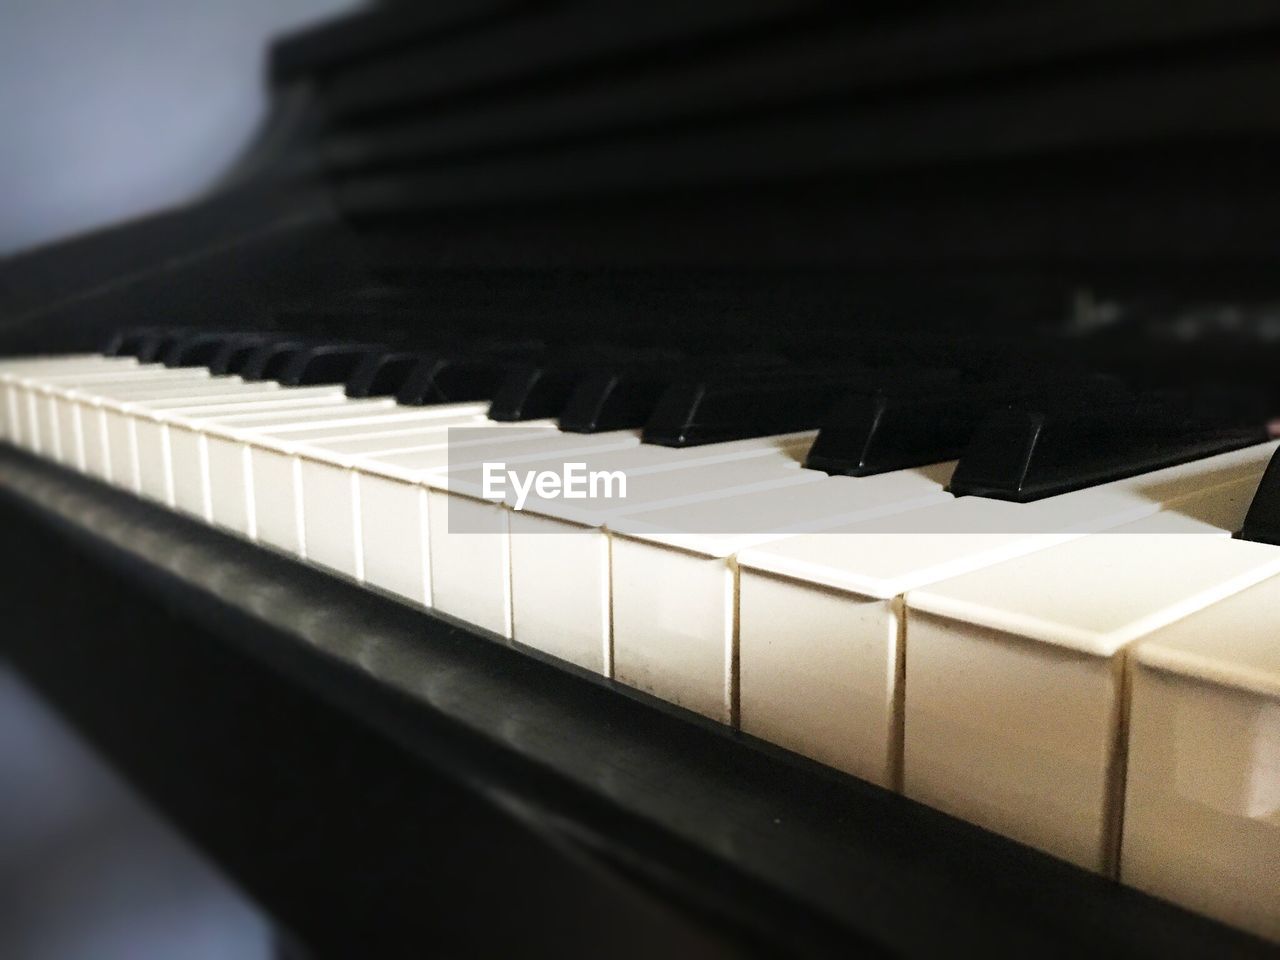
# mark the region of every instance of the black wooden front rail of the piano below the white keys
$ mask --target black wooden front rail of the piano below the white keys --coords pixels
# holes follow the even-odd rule
[[[319,955],[374,928],[562,955],[620,934],[650,955],[1272,955],[8,447],[0,522],[0,655]],[[421,878],[442,864],[448,883]],[[530,881],[518,902],[479,892],[494,865]]]

